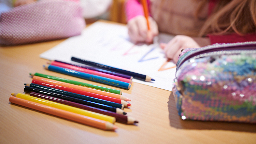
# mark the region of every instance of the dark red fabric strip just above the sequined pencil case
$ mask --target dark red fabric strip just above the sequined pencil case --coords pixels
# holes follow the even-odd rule
[[[256,41],[256,33],[250,33],[246,35],[238,35],[237,33],[227,35],[208,34],[208,37],[210,38],[211,44]]]

